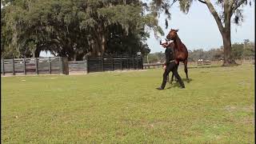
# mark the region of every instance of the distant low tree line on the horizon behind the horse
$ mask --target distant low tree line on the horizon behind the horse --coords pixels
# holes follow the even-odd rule
[[[240,58],[254,58],[255,54],[255,42],[250,42],[246,39],[244,42],[238,43],[235,42],[232,44],[232,52],[231,55],[234,59]],[[210,50],[188,50],[190,62],[197,62],[198,59],[210,60],[210,61],[220,61],[224,59],[224,51],[223,46],[220,48],[210,49]],[[147,61],[148,59],[148,61]],[[156,62],[164,62],[165,54],[162,52],[148,54],[148,57],[143,58],[143,62],[156,63]]]

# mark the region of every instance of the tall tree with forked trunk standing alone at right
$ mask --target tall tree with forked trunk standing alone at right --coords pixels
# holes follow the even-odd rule
[[[224,62],[223,66],[230,66],[236,64],[231,54],[231,19],[234,19],[234,23],[238,24],[243,20],[242,8],[249,4],[251,1],[247,0],[173,0],[171,3],[169,0],[154,0],[158,10],[166,10],[167,16],[170,18],[169,9],[174,2],[179,2],[179,6],[184,13],[188,13],[193,1],[201,2],[202,5],[207,6],[210,14],[213,15],[215,22],[218,25],[218,30],[222,34],[222,41],[224,47]],[[166,25],[167,25],[166,21]]]

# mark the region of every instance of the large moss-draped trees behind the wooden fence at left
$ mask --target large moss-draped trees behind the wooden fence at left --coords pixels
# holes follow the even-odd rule
[[[149,53],[150,30],[163,35],[155,3],[139,0],[1,0],[2,58],[69,60]]]

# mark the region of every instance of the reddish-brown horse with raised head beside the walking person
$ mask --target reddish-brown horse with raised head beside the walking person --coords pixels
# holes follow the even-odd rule
[[[187,80],[187,82],[189,82],[189,77],[187,75],[188,52],[187,52],[186,46],[182,43],[181,39],[178,38],[177,32],[178,32],[178,30],[170,29],[170,32],[166,36],[166,39],[174,41],[174,42],[171,42],[169,46],[174,47],[174,59],[175,59],[175,62],[177,63],[177,65],[179,65],[179,62],[184,63],[184,71],[186,73],[186,80]],[[174,74],[171,75],[170,83],[172,83],[173,81],[174,81]]]

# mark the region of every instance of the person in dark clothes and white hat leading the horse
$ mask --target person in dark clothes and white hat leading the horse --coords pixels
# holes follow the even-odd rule
[[[178,82],[181,86],[181,88],[185,88],[184,82],[182,81],[182,78],[178,74],[178,66],[174,60],[174,47],[170,46],[169,42],[160,42],[160,45],[162,45],[163,48],[166,48],[165,54],[166,54],[166,62],[164,63],[163,69],[165,72],[163,73],[163,79],[162,79],[162,85],[158,87],[158,90],[164,90],[167,82],[167,76],[169,75],[170,71],[173,72],[174,77],[178,79]]]

